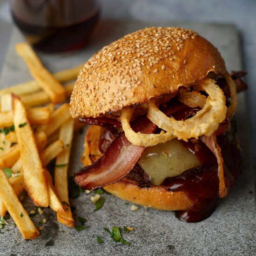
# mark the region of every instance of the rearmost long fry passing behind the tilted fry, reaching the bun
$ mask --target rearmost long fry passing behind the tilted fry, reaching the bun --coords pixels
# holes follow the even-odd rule
[[[80,70],[83,68],[84,64],[81,64],[77,67],[73,67],[70,69],[64,69],[53,74],[54,78],[62,82],[71,81],[77,78]],[[36,81],[28,81],[24,83],[20,83],[17,85],[10,86],[8,88],[4,88],[0,90],[0,96],[7,93],[13,93],[17,96],[25,95],[25,94],[33,94],[41,89],[40,85]],[[67,90],[66,90],[67,92]],[[72,89],[71,89],[72,92]],[[71,94],[71,93],[70,93]]]

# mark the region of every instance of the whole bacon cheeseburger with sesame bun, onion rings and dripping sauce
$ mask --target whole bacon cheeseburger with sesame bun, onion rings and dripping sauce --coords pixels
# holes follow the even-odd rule
[[[240,174],[233,116],[243,75],[179,27],[147,27],[103,47],[71,96],[73,118],[91,125],[74,181],[187,222],[207,218]]]

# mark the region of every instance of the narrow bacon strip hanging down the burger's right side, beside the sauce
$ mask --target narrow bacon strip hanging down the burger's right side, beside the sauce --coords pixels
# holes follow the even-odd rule
[[[234,177],[233,175],[223,168],[223,158],[221,148],[217,143],[216,134],[212,134],[211,136],[201,136],[201,141],[205,143],[205,145],[212,151],[212,153],[216,156],[218,163],[218,177],[219,177],[219,196],[225,197],[228,195],[229,188],[233,183]],[[226,176],[225,176],[226,175]]]

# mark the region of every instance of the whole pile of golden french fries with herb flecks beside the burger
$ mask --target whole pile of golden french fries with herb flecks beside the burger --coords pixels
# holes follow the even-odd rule
[[[73,134],[81,124],[71,118],[67,103],[74,82],[62,84],[76,79],[83,64],[50,74],[27,43],[15,49],[34,81],[0,90],[0,216],[8,212],[22,236],[33,239],[39,231],[19,200],[24,189],[35,206],[50,207],[59,222],[74,226],[67,170]],[[54,158],[53,184],[47,164]]]

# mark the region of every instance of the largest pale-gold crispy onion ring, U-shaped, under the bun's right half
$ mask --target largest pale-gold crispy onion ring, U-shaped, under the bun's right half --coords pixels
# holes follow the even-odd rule
[[[179,140],[187,141],[189,138],[198,139],[202,135],[212,135],[219,123],[225,119],[227,112],[226,98],[222,89],[215,82],[212,79],[205,79],[198,84],[209,96],[204,107],[193,117],[177,121],[159,110],[155,105],[156,99],[152,99],[148,104],[148,119],[165,130],[167,134],[173,134]]]

